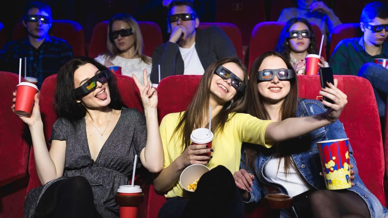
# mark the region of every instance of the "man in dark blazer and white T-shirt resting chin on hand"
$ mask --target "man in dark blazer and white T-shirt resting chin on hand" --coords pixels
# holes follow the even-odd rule
[[[232,41],[217,26],[196,30],[199,18],[192,2],[172,1],[168,20],[171,35],[168,42],[155,48],[152,54],[152,83],[172,75],[203,75],[211,63],[224,57],[237,56]]]

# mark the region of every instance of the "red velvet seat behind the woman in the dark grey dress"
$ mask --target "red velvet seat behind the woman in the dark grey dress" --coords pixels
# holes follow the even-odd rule
[[[140,99],[139,89],[137,89],[137,86],[133,81],[132,77],[116,75],[116,79],[117,79],[117,85],[118,85],[121,97],[123,98],[125,105],[128,106],[128,108],[136,108],[141,112],[143,112],[144,110]],[[48,147],[49,147],[48,141],[51,136],[52,125],[58,119],[58,116],[54,110],[54,103],[53,103],[56,84],[57,84],[57,74],[47,77],[43,81],[42,88],[40,91],[40,96],[39,96],[40,113],[42,115],[45,139]],[[28,184],[27,191],[41,185],[38,175],[36,173],[35,160],[34,160],[32,147],[29,155],[28,171],[30,174],[30,181]],[[148,195],[147,190],[143,190],[144,196]],[[26,192],[24,192],[24,196],[25,194]],[[145,201],[140,206],[140,210],[139,210],[139,215],[142,215],[143,217],[145,216],[145,212],[146,212],[145,210],[147,206],[146,204],[147,202]],[[141,209],[141,208],[144,208],[144,209]]]

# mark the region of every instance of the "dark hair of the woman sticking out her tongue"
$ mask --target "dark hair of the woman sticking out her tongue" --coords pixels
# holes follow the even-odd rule
[[[78,67],[88,63],[93,64],[99,70],[106,69],[104,65],[88,57],[74,57],[59,69],[54,96],[54,109],[59,117],[64,117],[71,121],[85,117],[86,108],[81,103],[76,102],[79,98],[74,94],[74,72]],[[108,86],[111,97],[111,103],[109,103],[108,107],[120,110],[125,105],[121,99],[114,75],[108,80]]]

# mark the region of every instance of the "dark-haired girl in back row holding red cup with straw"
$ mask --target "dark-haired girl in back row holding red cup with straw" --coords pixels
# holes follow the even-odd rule
[[[306,56],[319,53],[311,24],[300,17],[289,19],[282,29],[275,51],[290,60],[298,75],[306,74]],[[320,57],[318,65],[329,67],[323,56]]]

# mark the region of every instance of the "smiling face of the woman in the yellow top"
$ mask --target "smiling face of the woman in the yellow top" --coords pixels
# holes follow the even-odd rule
[[[242,81],[244,81],[244,72],[236,63],[229,62],[222,65],[230,70]],[[213,74],[210,81],[210,93],[215,100],[224,104],[234,98],[237,94],[237,90],[232,86],[232,79],[222,79],[217,74]]]

